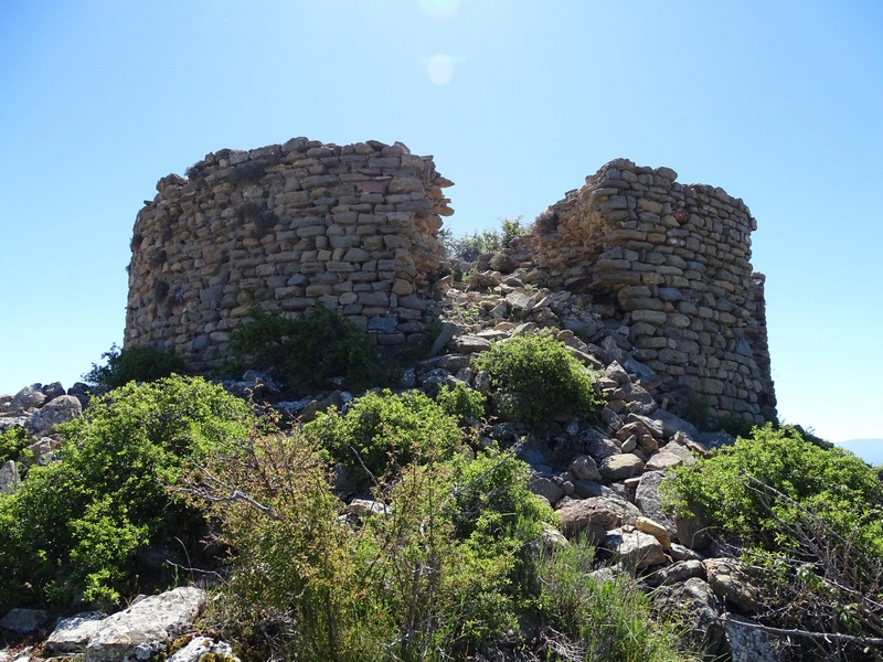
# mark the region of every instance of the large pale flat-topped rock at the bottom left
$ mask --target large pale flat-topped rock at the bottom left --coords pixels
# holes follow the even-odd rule
[[[204,590],[181,587],[109,616],[89,640],[84,662],[147,660],[187,631],[204,602]]]

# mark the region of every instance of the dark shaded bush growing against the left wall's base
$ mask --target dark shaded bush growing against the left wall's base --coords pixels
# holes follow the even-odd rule
[[[227,373],[253,367],[308,387],[325,386],[333,376],[364,382],[374,367],[368,334],[321,303],[294,320],[253,307],[230,334],[230,354]]]

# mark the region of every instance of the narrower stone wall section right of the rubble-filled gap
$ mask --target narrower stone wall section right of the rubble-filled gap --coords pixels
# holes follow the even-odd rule
[[[543,214],[534,264],[628,327],[631,354],[720,413],[775,416],[757,225],[722,189],[611,161]]]

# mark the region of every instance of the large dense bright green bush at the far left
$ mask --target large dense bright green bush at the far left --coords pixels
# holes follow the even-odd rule
[[[129,383],[93,399],[60,426],[61,461],[33,467],[0,496],[0,610],[137,592],[137,552],[187,537],[196,516],[166,485],[253,425],[244,402],[200,378]]]

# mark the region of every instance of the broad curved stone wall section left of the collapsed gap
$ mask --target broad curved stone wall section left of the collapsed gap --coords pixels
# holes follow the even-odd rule
[[[222,150],[162,178],[132,237],[125,345],[153,344],[196,370],[220,363],[255,303],[315,302],[381,344],[417,342],[453,212],[432,157],[401,143],[292,139]]]

